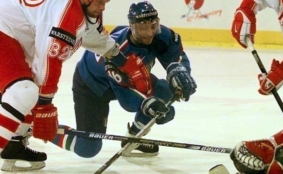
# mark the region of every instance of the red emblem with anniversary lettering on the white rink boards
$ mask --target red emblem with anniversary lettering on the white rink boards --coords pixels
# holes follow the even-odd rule
[[[187,22],[192,22],[193,20],[209,19],[211,16],[220,17],[222,14],[221,9],[208,12],[200,11],[200,8],[204,4],[204,0],[185,0],[185,3],[189,8],[189,11],[186,14],[182,15],[181,19],[185,18]]]

